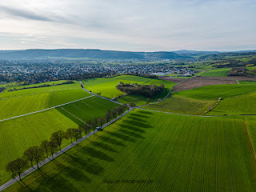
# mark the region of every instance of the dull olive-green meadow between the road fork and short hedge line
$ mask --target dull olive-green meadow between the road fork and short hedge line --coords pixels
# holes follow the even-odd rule
[[[175,114],[197,114],[202,115],[209,106],[214,106],[217,100],[200,100],[187,98],[178,93],[170,94],[166,100],[157,104],[144,106],[145,109],[160,110]]]

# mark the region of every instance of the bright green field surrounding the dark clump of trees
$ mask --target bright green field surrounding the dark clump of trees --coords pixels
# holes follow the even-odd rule
[[[157,86],[164,85],[166,87],[162,93],[156,95],[154,98],[151,98],[150,101],[154,102],[158,98],[164,98],[170,88],[174,86],[176,83],[169,82],[161,79],[151,79],[151,78],[142,78],[138,76],[132,75],[122,75],[114,78],[92,78],[83,81],[86,90],[91,90],[94,94],[102,93],[101,95],[106,98],[117,98],[118,96],[125,94],[122,91],[118,90],[115,86],[118,85],[119,82],[124,83],[138,83],[143,85],[151,85],[155,84]],[[135,102],[137,106],[141,106],[146,104],[146,97],[140,95],[129,95],[123,96],[122,98],[118,98],[118,102],[122,103],[130,103]]]

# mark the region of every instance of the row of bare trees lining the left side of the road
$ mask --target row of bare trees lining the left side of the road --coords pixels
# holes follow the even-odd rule
[[[54,158],[54,154],[61,150],[62,142],[64,139],[70,139],[73,143],[74,140],[77,142],[79,138],[82,138],[82,134],[87,135],[90,130],[96,130],[97,126],[103,126],[106,122],[110,122],[112,118],[117,118],[118,115],[122,114],[126,110],[127,106],[115,107],[113,110],[108,109],[105,118],[94,118],[90,119],[86,123],[79,125],[78,128],[70,128],[64,132],[63,130],[58,130],[54,132],[50,141],[44,140],[41,142],[40,146],[31,146],[24,153],[22,158],[17,158],[14,161],[9,162],[6,165],[6,171],[11,172],[13,177],[16,175],[21,177],[21,174],[26,168],[33,167],[34,164],[37,165],[43,159],[48,158],[49,154]]]

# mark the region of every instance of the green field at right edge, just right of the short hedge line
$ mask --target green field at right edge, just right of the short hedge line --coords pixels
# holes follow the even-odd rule
[[[206,115],[222,114],[256,114],[256,92],[234,98],[225,98]]]

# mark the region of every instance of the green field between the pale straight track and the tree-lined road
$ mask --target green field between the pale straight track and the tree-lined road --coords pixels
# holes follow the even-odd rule
[[[78,121],[79,118],[86,121],[90,118],[104,117],[106,110],[115,106],[117,104],[113,102],[93,97],[63,108],[0,122],[0,183],[3,184],[10,179],[10,174],[4,169],[6,164],[10,160],[22,157],[24,150],[30,146],[38,146],[44,139],[50,139],[54,131],[78,127],[82,124]],[[63,143],[63,146],[67,144],[70,142]]]

